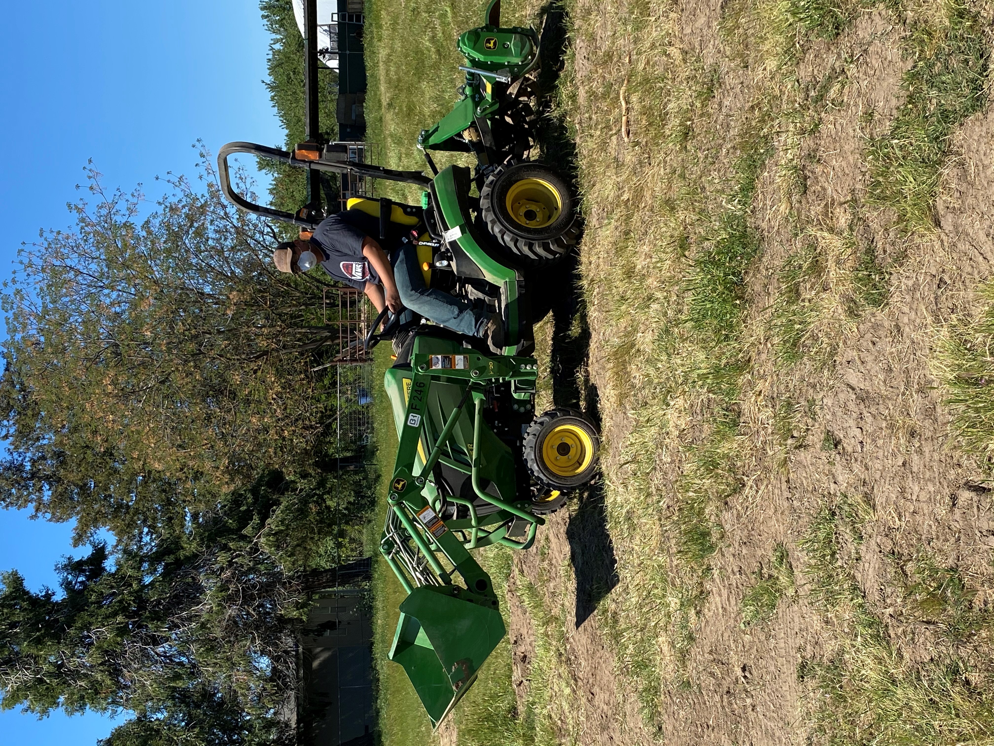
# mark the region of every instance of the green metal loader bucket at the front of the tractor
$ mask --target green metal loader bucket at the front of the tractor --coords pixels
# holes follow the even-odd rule
[[[476,672],[504,637],[495,608],[456,598],[451,587],[421,586],[401,604],[390,659],[408,672],[436,726],[476,680]]]

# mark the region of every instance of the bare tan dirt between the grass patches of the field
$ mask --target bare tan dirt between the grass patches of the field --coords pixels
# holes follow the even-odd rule
[[[719,67],[722,85],[713,110],[728,115],[747,104],[748,82],[723,49],[716,31],[720,15],[721,0],[687,0],[675,43]],[[806,190],[794,209],[808,225],[843,228],[852,221],[853,206],[864,204],[865,144],[887,130],[902,102],[900,83],[909,62],[900,52],[900,33],[882,11],[866,13],[842,38],[815,45],[799,65],[802,78],[817,78],[833,66],[844,66],[847,77],[821,127],[800,142]],[[575,54],[581,64],[581,46]],[[615,144],[623,153],[620,131]],[[940,226],[933,234],[905,237],[888,228],[892,221],[886,211],[861,213],[861,236],[877,247],[878,256],[901,257],[901,262],[887,303],[858,323],[834,330],[828,365],[777,367],[772,342],[762,331],[776,291],[776,269],[793,245],[781,187],[771,161],[760,175],[752,212],[763,253],[747,275],[745,325],[755,351],[741,402],[745,488],[723,508],[724,537],[712,559],[707,602],[689,658],[691,685],[664,691],[662,732],[647,729],[634,697],[626,695],[632,687],[619,680],[594,611],[601,599],[623,592],[629,572],[615,560],[612,542],[619,537],[605,528],[599,489],[552,516],[543,544],[515,560],[509,632],[514,684],[522,701],[536,639],[535,625],[516,594],[518,584],[528,579],[566,612],[567,666],[562,670],[575,711],[563,714],[564,738],[569,734],[580,744],[803,743],[807,728],[798,664],[802,657],[830,651],[837,637],[832,621],[806,601],[800,572],[805,559],[797,544],[826,496],[861,494],[872,504],[857,577],[908,659],[927,658],[931,646],[926,631],[891,614],[900,603],[891,557],[926,550],[958,567],[978,587],[994,588],[994,498],[985,474],[950,441],[949,412],[929,368],[936,330],[953,314],[973,308],[977,283],[992,277],[994,114],[988,106],[957,132],[938,203]],[[602,343],[602,319],[595,309],[588,323],[588,354],[595,359]],[[611,385],[597,366],[591,366],[589,377],[601,391]],[[793,441],[806,439],[807,447],[784,453],[770,435],[770,412],[772,401],[787,397],[813,406],[791,434]],[[608,483],[623,467],[626,417],[608,407],[600,411]],[[833,448],[821,446],[826,438]],[[665,483],[675,474],[659,478]],[[780,604],[768,623],[744,629],[743,595],[778,542],[788,547],[798,569],[799,593],[791,603]],[[570,571],[560,572],[562,567]],[[561,604],[563,599],[567,603]]]

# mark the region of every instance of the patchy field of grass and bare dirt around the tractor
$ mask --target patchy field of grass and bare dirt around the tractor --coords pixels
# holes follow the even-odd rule
[[[368,10],[370,136],[419,167],[482,4]],[[514,645],[459,743],[994,742],[994,9],[504,18],[550,11],[585,233],[543,396],[599,410],[603,480],[499,558]]]

